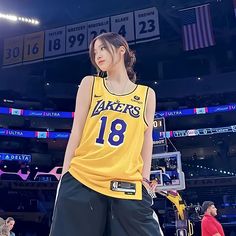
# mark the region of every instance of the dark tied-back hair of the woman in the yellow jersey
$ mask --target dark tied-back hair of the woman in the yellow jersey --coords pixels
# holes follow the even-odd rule
[[[92,42],[89,45],[89,56],[92,64],[97,68],[98,73],[106,73],[105,71],[100,71],[98,68],[96,62],[95,62],[95,55],[94,55],[94,44],[96,40],[99,39],[104,44],[104,46],[107,48],[109,53],[112,55],[114,52],[112,51],[112,48],[109,47],[109,44],[114,46],[115,48],[119,48],[123,46],[125,48],[125,55],[124,55],[124,62],[125,62],[125,68],[127,71],[127,74],[129,76],[129,79],[132,82],[136,82],[136,73],[134,72],[134,64],[136,62],[136,57],[134,52],[129,48],[129,45],[124,37],[117,33],[103,33],[98,35],[95,39],[92,40]]]

